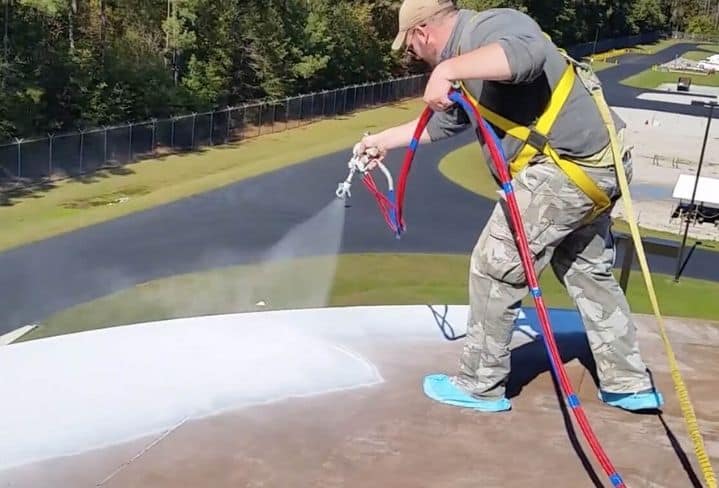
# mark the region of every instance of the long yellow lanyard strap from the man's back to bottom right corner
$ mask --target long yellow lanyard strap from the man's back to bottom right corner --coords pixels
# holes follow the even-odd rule
[[[667,335],[666,327],[664,325],[664,319],[659,312],[657,296],[654,292],[652,277],[649,274],[649,267],[647,265],[646,257],[644,254],[644,248],[642,246],[641,237],[639,236],[639,227],[637,226],[636,219],[634,218],[634,211],[632,210],[632,199],[629,194],[629,184],[627,182],[627,176],[624,172],[624,165],[622,164],[621,156],[619,154],[619,146],[617,144],[616,132],[614,129],[614,123],[612,121],[611,114],[609,112],[609,107],[607,106],[606,101],[601,94],[601,90],[593,90],[593,96],[597,102],[597,106],[599,107],[600,112],[602,113],[604,123],[609,129],[612,153],[614,155],[614,162],[617,168],[617,174],[619,175],[619,187],[622,191],[622,199],[624,200],[624,208],[627,214],[627,220],[629,221],[629,226],[632,231],[632,239],[634,240],[637,257],[639,258],[639,263],[642,268],[642,274],[644,275],[644,282],[646,283],[647,290],[649,292],[649,299],[652,303],[652,308],[654,309],[654,315],[656,315],[657,321],[659,322],[659,331],[662,337],[662,341],[664,342],[664,348],[666,350],[667,358],[669,360],[669,368],[671,371],[672,381],[674,382],[674,389],[676,390],[677,397],[679,398],[679,406],[681,407],[682,415],[684,416],[684,422],[687,425],[689,437],[694,443],[694,452],[697,456],[697,460],[704,476],[706,486],[707,488],[717,488],[716,475],[714,474],[711,462],[709,461],[709,456],[707,455],[706,449],[704,447],[702,435],[699,431],[699,425],[697,423],[697,417],[694,413],[694,407],[692,406],[691,399],[689,398],[689,392],[687,391],[686,385],[684,384],[682,375],[679,372],[679,365],[677,364],[677,360],[674,356],[674,351],[672,350],[672,346],[669,342],[669,337]]]

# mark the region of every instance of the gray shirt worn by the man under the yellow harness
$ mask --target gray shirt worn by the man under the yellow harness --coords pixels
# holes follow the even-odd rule
[[[464,54],[493,42],[498,42],[506,52],[512,71],[511,81],[462,81],[482,106],[514,122],[531,126],[549,102],[552,89],[566,69],[567,60],[531,17],[508,8],[488,9],[480,13],[460,10],[441,58],[456,56],[458,46],[460,54]],[[615,113],[612,115],[617,130],[620,130],[623,122]],[[468,117],[461,107],[455,106],[447,112],[435,113],[427,131],[436,141],[470,127],[475,127],[473,118]],[[521,143],[505,136],[499,128],[495,131],[502,141],[505,155],[511,160]],[[609,144],[601,114],[579,76],[549,133],[549,144],[560,155],[581,159],[600,153]],[[486,147],[484,151],[489,161]],[[493,169],[491,164],[490,167]]]

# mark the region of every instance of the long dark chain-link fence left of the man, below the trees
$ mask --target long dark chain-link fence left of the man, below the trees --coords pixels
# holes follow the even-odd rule
[[[281,100],[0,145],[0,182],[77,177],[139,159],[281,132],[421,95],[427,74],[352,85]]]

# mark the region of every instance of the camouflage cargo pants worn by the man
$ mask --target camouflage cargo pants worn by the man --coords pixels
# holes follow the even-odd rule
[[[630,161],[625,168],[629,179]],[[610,198],[619,194],[614,168],[587,173]],[[592,203],[553,163],[528,166],[514,187],[536,273],[551,264],[566,286],[586,327],[600,387],[615,393],[651,388],[629,306],[612,275],[610,211],[583,223]],[[509,209],[500,200],[470,261],[470,316],[454,381],[477,397],[505,393],[509,343],[519,313],[513,305],[528,294],[509,222]]]

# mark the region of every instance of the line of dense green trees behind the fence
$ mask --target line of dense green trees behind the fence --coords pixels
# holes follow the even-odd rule
[[[0,139],[408,74],[399,0],[1,0]],[[708,0],[459,0],[532,15],[561,45],[715,28]]]

